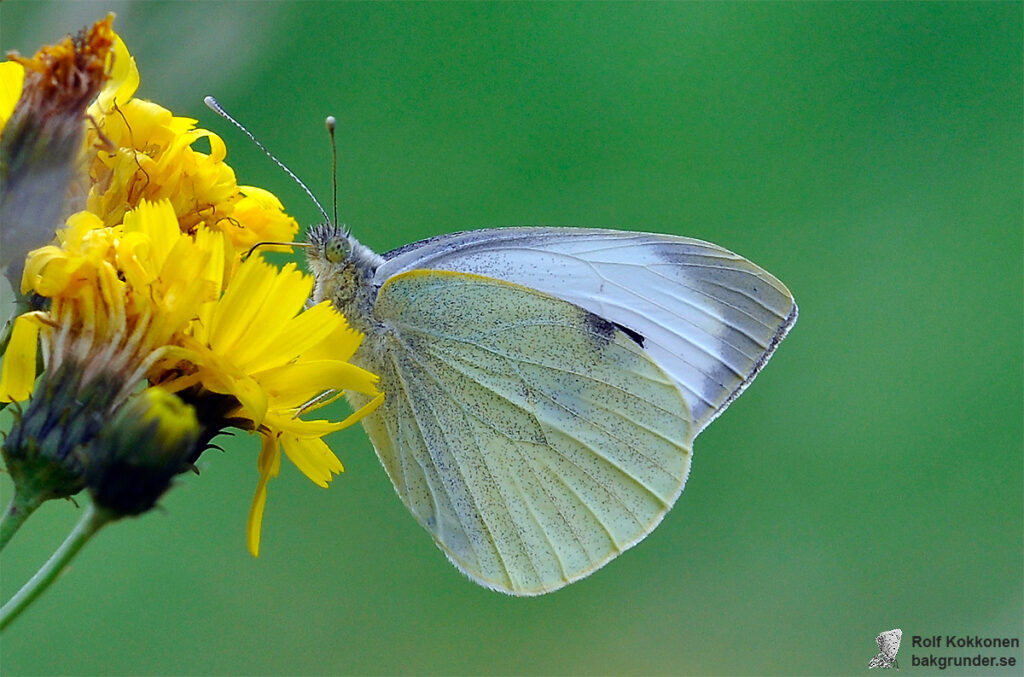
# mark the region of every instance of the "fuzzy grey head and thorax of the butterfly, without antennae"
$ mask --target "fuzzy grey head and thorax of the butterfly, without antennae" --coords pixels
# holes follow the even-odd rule
[[[310,247],[306,260],[313,274],[313,302],[330,300],[354,329],[374,333],[377,289],[373,278],[384,259],[332,223],[313,226],[307,239]]]

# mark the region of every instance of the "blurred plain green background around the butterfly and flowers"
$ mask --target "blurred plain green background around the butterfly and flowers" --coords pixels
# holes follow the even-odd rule
[[[801,316],[664,523],[560,592],[464,579],[357,428],[330,440],[330,490],[285,464],[253,559],[242,436],[90,543],[0,672],[856,675],[900,627],[923,674],[911,635],[1024,640],[1020,3],[8,0],[2,47],[108,9],[139,95],[217,131],[300,222],[315,208],[205,94],[325,201],[337,116],[342,218],[378,251],[660,230],[763,265]],[[30,520],[5,599],[79,514]]]

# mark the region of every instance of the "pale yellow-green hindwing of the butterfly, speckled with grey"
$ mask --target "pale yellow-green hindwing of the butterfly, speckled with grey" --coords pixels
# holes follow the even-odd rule
[[[560,588],[644,538],[682,491],[693,427],[623,330],[492,278],[412,270],[357,357],[385,403],[364,420],[392,482],[486,587]]]

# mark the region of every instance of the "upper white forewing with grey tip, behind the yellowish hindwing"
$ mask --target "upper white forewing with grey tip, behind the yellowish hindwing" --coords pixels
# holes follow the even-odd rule
[[[797,321],[782,283],[690,238],[591,228],[470,230],[385,255],[378,284],[416,268],[497,278],[574,303],[632,332],[702,430],[751,383]]]

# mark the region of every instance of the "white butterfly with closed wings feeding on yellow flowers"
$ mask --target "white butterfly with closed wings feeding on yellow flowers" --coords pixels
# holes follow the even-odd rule
[[[457,567],[515,595],[647,536],[797,320],[778,280],[688,238],[514,227],[382,257],[327,224],[309,244],[313,300],[381,377],[364,425],[395,491]]]

